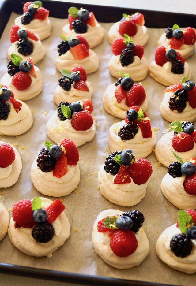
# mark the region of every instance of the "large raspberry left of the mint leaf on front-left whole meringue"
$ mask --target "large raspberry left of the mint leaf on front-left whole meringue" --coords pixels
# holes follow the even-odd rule
[[[16,223],[16,227],[32,228],[36,222],[33,219],[31,200],[20,200],[13,205],[12,217]]]

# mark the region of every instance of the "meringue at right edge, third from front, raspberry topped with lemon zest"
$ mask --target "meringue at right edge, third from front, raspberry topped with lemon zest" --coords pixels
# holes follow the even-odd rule
[[[166,167],[175,161],[174,154],[183,162],[196,156],[194,124],[189,121],[174,121],[169,127],[167,133],[158,140],[155,147],[157,160]],[[169,130],[173,131],[168,132]]]

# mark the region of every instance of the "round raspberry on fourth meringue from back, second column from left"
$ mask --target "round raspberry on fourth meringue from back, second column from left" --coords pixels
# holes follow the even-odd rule
[[[91,128],[92,124],[92,115],[87,110],[82,110],[74,113],[71,119],[71,125],[77,131],[88,130]]]

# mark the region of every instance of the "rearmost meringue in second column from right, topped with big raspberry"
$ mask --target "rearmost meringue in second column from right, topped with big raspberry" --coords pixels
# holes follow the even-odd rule
[[[149,38],[144,23],[144,15],[141,13],[123,14],[123,18],[113,24],[108,31],[107,38],[109,43],[111,44],[117,38],[125,39],[124,34],[127,34],[136,45],[144,46]]]

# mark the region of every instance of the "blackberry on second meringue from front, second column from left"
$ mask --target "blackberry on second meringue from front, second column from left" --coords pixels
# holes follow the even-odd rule
[[[56,158],[50,155],[47,148],[42,148],[37,158],[37,166],[42,172],[50,172],[55,168]]]

